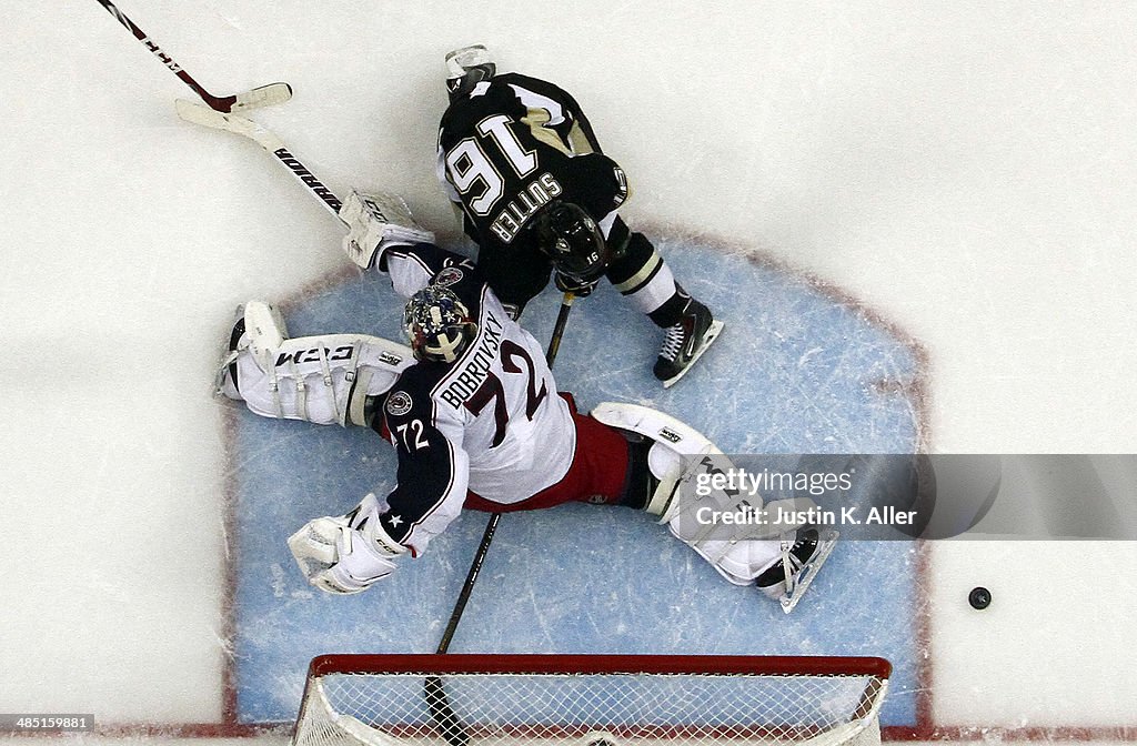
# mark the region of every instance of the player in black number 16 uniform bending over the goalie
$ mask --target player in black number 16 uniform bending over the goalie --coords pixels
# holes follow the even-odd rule
[[[484,47],[447,55],[450,105],[438,140],[438,177],[464,213],[478,263],[518,315],[547,284],[589,295],[600,276],[666,330],[655,363],[675,383],[722,330],[639,232],[619,215],[629,194],[576,101],[558,86],[496,74]],[[581,258],[588,272],[579,270]]]

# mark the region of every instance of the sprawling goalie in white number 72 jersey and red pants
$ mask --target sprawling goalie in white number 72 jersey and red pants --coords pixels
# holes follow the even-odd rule
[[[694,524],[696,499],[731,507],[731,495],[696,498],[688,489],[700,473],[729,466],[725,456],[646,407],[578,412],[557,391],[541,345],[476,265],[433,244],[390,199],[352,193],[345,248],[360,266],[388,273],[406,299],[409,347],[359,334],[290,339],[275,309],[249,301],[219,366],[218,392],[258,415],[371,428],[397,451],[390,494],[368,494],[347,514],[317,517],[291,536],[308,581],[330,594],[363,591],[424,554],[464,508],[587,502],[658,516],[728,581],[791,608],[835,537],[797,525],[739,540]]]

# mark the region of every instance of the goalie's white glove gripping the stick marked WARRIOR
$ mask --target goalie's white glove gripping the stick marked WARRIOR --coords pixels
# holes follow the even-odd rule
[[[343,252],[364,270],[375,266],[390,246],[434,242],[434,234],[415,221],[398,194],[365,194],[352,189],[340,208],[340,218],[348,226]]]

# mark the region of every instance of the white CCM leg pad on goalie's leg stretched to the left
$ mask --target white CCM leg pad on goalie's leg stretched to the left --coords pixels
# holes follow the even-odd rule
[[[413,365],[409,347],[365,334],[298,337],[236,354],[240,398],[255,414],[319,425],[367,425],[367,397],[385,393]]]

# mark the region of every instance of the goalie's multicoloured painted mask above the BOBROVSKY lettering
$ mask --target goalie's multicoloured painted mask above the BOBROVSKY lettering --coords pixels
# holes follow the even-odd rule
[[[402,328],[415,358],[453,363],[478,334],[478,324],[449,288],[428,285],[407,301]]]

